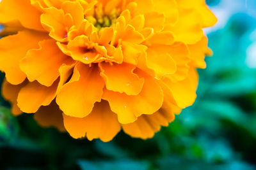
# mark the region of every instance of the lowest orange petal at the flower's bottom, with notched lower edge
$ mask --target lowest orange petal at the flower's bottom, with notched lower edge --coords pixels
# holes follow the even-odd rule
[[[86,136],[90,141],[99,138],[107,142],[120,131],[116,114],[110,110],[106,101],[95,103],[92,113],[87,117],[76,118],[63,114],[63,118],[68,133],[76,139]]]

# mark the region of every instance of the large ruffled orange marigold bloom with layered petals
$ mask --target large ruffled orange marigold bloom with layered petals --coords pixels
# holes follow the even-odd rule
[[[204,0],[2,0],[0,69],[13,115],[73,138],[152,138],[193,104]]]

